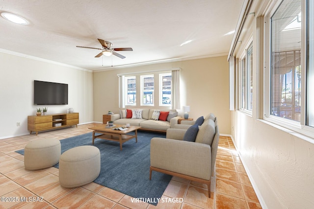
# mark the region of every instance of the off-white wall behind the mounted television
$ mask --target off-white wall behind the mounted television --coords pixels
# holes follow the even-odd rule
[[[33,105],[34,80],[68,84],[68,105]],[[74,108],[79,123],[93,121],[93,73],[0,52],[0,139],[29,134],[27,116],[36,108],[48,114]],[[20,122],[21,126],[16,126]]]

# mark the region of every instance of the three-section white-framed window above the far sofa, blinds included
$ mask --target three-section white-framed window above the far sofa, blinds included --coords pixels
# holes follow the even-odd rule
[[[181,68],[172,68],[117,74],[119,108],[170,106],[172,109],[180,109],[180,70]],[[140,103],[136,103],[136,94]]]

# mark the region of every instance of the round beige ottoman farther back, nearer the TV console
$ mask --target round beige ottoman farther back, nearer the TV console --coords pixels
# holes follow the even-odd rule
[[[40,139],[26,144],[24,165],[27,170],[51,167],[59,162],[61,144],[58,139]]]

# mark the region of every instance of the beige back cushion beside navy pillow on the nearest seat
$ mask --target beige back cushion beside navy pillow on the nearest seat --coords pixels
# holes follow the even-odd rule
[[[205,120],[199,127],[195,142],[211,145],[215,136],[215,123],[213,120]]]

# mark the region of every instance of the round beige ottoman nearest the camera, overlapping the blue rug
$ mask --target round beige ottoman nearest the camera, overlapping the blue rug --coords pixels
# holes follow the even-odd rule
[[[59,161],[59,182],[66,188],[93,182],[100,173],[100,151],[95,146],[78,146],[62,153]]]

